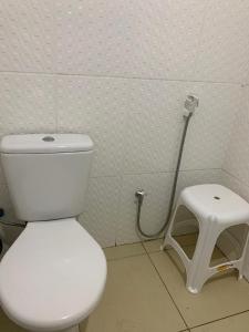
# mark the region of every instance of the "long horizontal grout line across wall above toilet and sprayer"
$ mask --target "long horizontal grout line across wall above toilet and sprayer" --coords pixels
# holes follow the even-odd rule
[[[98,77],[98,79],[120,79],[120,80],[139,80],[139,81],[163,81],[163,82],[181,82],[181,83],[207,83],[207,84],[226,84],[226,85],[245,85],[243,82],[226,82],[226,81],[200,81],[200,80],[183,80],[183,79],[166,79],[166,77],[143,77],[143,76],[122,76],[122,75],[98,75],[98,74],[82,74],[82,73],[60,73],[60,72],[20,72],[20,71],[0,71],[0,74],[38,74],[52,76],[82,76],[82,77]]]

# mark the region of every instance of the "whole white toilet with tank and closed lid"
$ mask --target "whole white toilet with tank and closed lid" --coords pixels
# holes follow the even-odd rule
[[[106,281],[101,247],[76,221],[93,143],[80,134],[9,135],[0,144],[10,196],[27,227],[0,262],[0,302],[29,331],[79,331]]]

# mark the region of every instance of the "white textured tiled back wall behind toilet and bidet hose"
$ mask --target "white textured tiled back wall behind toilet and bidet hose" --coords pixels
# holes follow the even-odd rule
[[[144,228],[163,222],[187,93],[200,105],[179,188],[222,180],[249,77],[248,1],[2,0],[0,27],[0,134],[92,136],[96,154],[80,220],[102,246],[138,239],[139,187],[148,194]]]

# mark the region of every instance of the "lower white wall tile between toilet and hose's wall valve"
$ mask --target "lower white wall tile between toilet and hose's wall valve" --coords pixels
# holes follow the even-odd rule
[[[80,222],[102,247],[115,246],[115,225],[120,207],[118,177],[91,178],[86,210]]]

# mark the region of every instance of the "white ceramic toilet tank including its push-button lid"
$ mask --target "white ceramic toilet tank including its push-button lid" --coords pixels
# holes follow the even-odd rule
[[[93,156],[87,135],[9,135],[0,153],[19,219],[61,219],[84,210]]]

